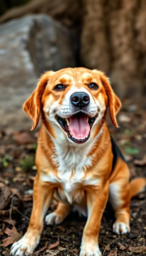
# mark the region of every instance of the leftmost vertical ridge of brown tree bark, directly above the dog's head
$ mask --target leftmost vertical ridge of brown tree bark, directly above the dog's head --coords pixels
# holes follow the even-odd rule
[[[109,73],[109,49],[103,4],[103,0],[84,1],[81,62],[88,68],[98,68]]]

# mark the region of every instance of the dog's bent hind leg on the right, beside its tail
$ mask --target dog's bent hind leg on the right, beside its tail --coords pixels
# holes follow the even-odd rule
[[[130,232],[130,184],[129,169],[122,159],[118,159],[109,185],[109,202],[111,203],[116,221],[113,232],[126,234]]]

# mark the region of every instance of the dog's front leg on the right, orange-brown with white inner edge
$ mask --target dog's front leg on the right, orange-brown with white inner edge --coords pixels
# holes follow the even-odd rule
[[[92,187],[87,190],[88,220],[84,227],[80,256],[101,255],[98,245],[98,235],[101,218],[108,199],[109,182],[102,188]]]

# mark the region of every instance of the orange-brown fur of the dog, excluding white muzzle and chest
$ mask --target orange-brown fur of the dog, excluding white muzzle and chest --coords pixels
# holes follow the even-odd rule
[[[84,77],[85,73],[87,73],[87,77],[83,79],[82,77]],[[66,79],[63,78],[62,80],[62,76],[65,76]],[[62,104],[67,91],[72,86],[72,78],[74,78],[76,86],[84,86],[87,90],[90,90],[87,87],[88,82],[96,81],[99,86],[98,92],[96,90],[90,92],[93,98],[98,98],[103,101],[105,106],[103,119],[101,123],[98,123],[96,129],[94,129],[92,139],[99,134],[101,129],[103,129],[102,136],[95,141],[88,152],[88,157],[92,157],[92,165],[88,166],[84,172],[84,179],[89,177],[92,178],[93,181],[98,180],[99,184],[85,185],[84,179],[81,179],[79,184],[76,185],[75,192],[72,196],[73,205],[81,208],[87,207],[88,209],[88,220],[83,232],[80,255],[84,256],[88,255],[88,253],[90,253],[90,255],[94,253],[96,253],[95,255],[100,255],[100,251],[98,251],[98,235],[108,196],[115,211],[116,222],[114,223],[114,228],[117,227],[116,225],[118,224],[119,232],[125,232],[123,227],[119,224],[124,223],[124,228],[127,227],[127,231],[129,231],[130,199],[131,196],[140,192],[144,185],[146,185],[146,179],[137,179],[129,184],[129,169],[121,158],[118,158],[114,171],[111,174],[113,153],[109,129],[106,123],[106,113],[107,107],[109,107],[111,120],[114,126],[118,127],[116,114],[118,113],[121,103],[114,94],[105,74],[96,70],[67,68],[57,72],[47,72],[41,77],[36,90],[24,103],[24,110],[33,121],[32,130],[36,128],[40,113],[42,114],[42,125],[36,152],[37,176],[33,189],[33,209],[26,237],[40,237],[43,228],[44,205],[46,212],[53,195],[59,201],[58,208],[54,212],[57,216],[58,223],[62,222],[71,211],[71,204],[67,202],[63,185],[59,182],[58,165],[55,164],[53,160],[53,155],[55,155],[56,152],[54,142],[49,134],[51,134],[53,138],[58,138],[58,134],[55,133],[54,127],[49,120],[46,120],[44,106],[46,104],[50,104],[51,106],[51,104],[58,99],[60,104]],[[53,88],[58,83],[63,83],[67,87],[67,90],[61,92],[54,91]],[[75,170],[72,170],[70,179],[74,176],[74,171]],[[58,182],[42,181],[42,175],[47,176],[48,174],[52,174],[53,177],[56,177]],[[117,195],[115,195],[117,196],[117,201],[113,198],[113,193],[116,193],[116,191],[114,191],[112,185],[115,184],[118,184],[118,187],[115,187],[116,189],[118,188]],[[84,191],[86,191],[86,196],[84,195]],[[76,199],[78,195],[82,195],[79,203]],[[60,200],[60,198],[63,198],[62,200],[64,201]],[[27,249],[27,253],[30,253],[29,249]]]

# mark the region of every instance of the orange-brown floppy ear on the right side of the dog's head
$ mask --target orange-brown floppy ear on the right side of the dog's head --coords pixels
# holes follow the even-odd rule
[[[121,108],[121,102],[117,97],[117,95],[114,93],[112,87],[110,86],[108,77],[106,77],[105,74],[101,71],[97,71],[97,73],[100,77],[100,80],[105,89],[106,95],[108,97],[107,106],[109,107],[109,115],[110,115],[111,121],[115,127],[118,127],[116,114]]]

